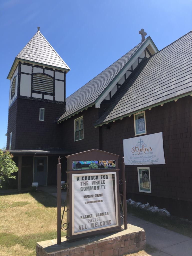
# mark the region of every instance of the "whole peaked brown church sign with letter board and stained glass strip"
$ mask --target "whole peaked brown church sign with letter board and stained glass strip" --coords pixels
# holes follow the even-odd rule
[[[119,156],[93,149],[66,158],[67,240],[120,231]]]

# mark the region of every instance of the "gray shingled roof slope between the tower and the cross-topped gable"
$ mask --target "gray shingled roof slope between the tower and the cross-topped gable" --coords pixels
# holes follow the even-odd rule
[[[148,37],[147,37],[148,38]],[[115,61],[111,66],[106,68],[91,81],[82,86],[79,90],[71,94],[66,99],[66,112],[59,118],[58,121],[70,116],[71,114],[83,109],[90,104],[94,104],[95,100],[100,96],[103,90],[116,77],[132,56],[146,42],[147,38],[136,45],[132,50],[127,52],[123,57]]]

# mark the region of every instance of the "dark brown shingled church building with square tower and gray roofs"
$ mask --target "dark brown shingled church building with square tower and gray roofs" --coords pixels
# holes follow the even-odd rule
[[[160,134],[163,163],[125,161],[127,199],[191,219],[192,31],[160,51],[139,33],[138,45],[66,98],[70,68],[38,27],[7,77],[7,150],[19,167],[18,190],[56,184],[58,156],[66,180],[66,155],[97,148],[121,161],[127,139],[140,154],[150,150],[144,138],[158,146]]]

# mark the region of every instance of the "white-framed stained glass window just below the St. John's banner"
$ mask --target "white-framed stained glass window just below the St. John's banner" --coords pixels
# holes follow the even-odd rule
[[[150,181],[150,169],[147,168],[137,168],[138,171],[138,182],[139,191],[151,193],[151,181]]]

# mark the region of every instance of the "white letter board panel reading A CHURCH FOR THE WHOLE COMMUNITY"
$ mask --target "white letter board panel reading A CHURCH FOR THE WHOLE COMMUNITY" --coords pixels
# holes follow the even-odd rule
[[[73,234],[117,226],[116,173],[73,174],[72,177]]]

